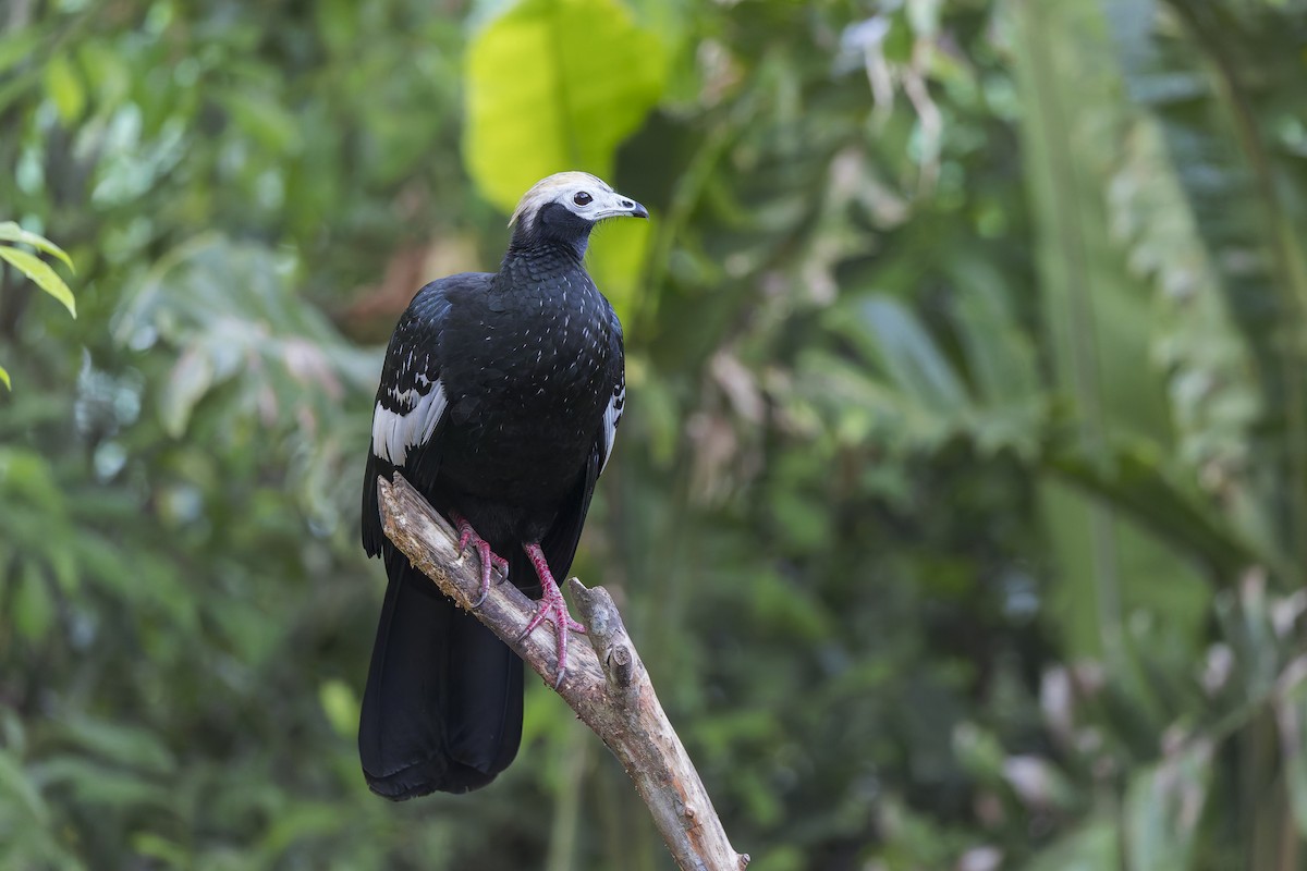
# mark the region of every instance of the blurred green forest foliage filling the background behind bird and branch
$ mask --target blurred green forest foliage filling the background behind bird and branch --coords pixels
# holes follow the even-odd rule
[[[563,168],[652,213],[574,571],[750,871],[1303,867],[1304,13],[8,0],[0,867],[670,867],[535,679],[354,747],[384,342]]]

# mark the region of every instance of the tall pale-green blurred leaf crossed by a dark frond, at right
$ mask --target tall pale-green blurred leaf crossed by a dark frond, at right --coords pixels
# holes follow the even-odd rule
[[[1033,0],[1005,9],[1023,106],[1044,347],[1055,387],[1073,401],[1077,451],[1106,456],[1112,440],[1128,439],[1166,456],[1175,435],[1166,373],[1151,358],[1151,289],[1131,270],[1107,221],[1104,188],[1129,121],[1107,25],[1093,3]],[[1114,501],[1056,481],[1042,488],[1040,501],[1065,578],[1051,606],[1067,620],[1073,656],[1125,656],[1115,639],[1141,606],[1187,620],[1196,640],[1205,592],[1183,556]],[[1167,584],[1145,580],[1154,577]],[[1163,588],[1165,603],[1155,598]],[[1182,601],[1187,607],[1176,607]]]

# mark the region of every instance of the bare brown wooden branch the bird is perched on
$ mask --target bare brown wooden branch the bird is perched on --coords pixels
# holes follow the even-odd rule
[[[378,478],[376,486],[386,535],[446,595],[471,610],[480,590],[474,551],[459,555],[457,534],[403,475],[396,474],[393,483]],[[567,640],[567,675],[558,695],[622,763],[684,871],[742,871],[749,857],[736,853],[727,840],[612,597],[603,586],[586,588],[575,577],[569,585],[588,633]],[[512,584],[493,584],[490,595],[472,612],[553,687],[553,632],[541,627],[519,637],[535,606]]]

